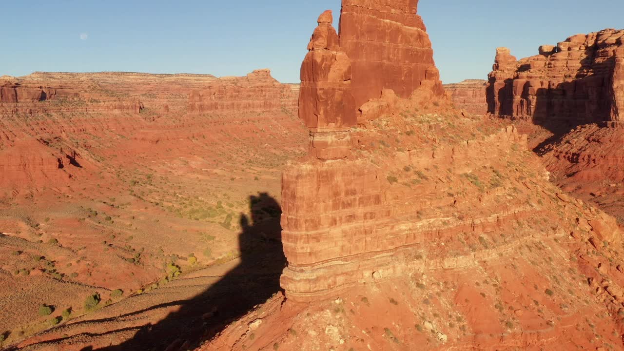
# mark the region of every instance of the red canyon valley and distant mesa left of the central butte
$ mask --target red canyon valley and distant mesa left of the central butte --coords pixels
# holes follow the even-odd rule
[[[188,112],[203,87],[220,105]],[[174,311],[195,333],[275,293],[281,169],[305,152],[297,88],[267,71],[7,77],[20,101],[0,104],[1,345],[119,344]],[[182,312],[193,298],[213,316]]]

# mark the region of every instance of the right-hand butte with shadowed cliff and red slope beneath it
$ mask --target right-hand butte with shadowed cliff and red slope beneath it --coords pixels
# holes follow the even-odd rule
[[[604,29],[520,60],[499,47],[487,99],[491,114],[529,122],[519,127],[558,185],[624,222],[623,87],[624,30]]]

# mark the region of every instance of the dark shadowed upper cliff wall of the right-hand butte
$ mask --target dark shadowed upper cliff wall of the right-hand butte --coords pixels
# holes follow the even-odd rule
[[[497,49],[487,89],[488,112],[535,122],[620,121],[624,30],[568,37],[516,60]]]

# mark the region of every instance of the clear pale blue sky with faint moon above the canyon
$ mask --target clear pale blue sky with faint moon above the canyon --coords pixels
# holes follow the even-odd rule
[[[3,1],[0,75],[134,71],[298,82],[316,17],[340,0]],[[537,54],[577,33],[624,27],[624,1],[421,0],[445,83],[485,78],[495,47]],[[82,37],[81,37],[82,35]]]

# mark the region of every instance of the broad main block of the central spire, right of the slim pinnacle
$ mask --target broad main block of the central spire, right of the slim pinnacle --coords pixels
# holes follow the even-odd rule
[[[431,41],[417,0],[343,0],[340,46],[353,69],[353,96],[359,107],[383,89],[409,97],[422,84],[444,91]]]

